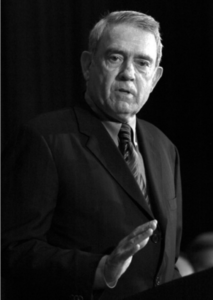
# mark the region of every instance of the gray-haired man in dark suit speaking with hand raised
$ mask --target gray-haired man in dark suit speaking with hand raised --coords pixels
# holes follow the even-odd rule
[[[179,276],[178,153],[136,118],[161,56],[147,15],[114,12],[93,28],[85,104],[24,126],[7,164],[5,276],[54,299],[122,299]]]

